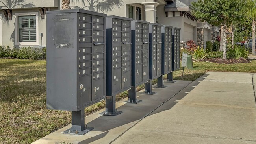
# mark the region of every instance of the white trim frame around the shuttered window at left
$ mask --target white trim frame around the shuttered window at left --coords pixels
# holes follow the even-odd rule
[[[15,45],[21,46],[38,46],[39,45],[39,20],[38,12],[31,13],[15,13]],[[36,18],[36,41],[35,42],[19,42],[19,16],[35,16]]]

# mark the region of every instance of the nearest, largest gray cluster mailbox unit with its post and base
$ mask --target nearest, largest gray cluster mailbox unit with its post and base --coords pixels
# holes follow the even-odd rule
[[[105,98],[105,17],[71,9],[47,11],[47,108],[72,111],[72,128],[83,135],[84,108]],[[79,133],[77,133],[79,131]]]

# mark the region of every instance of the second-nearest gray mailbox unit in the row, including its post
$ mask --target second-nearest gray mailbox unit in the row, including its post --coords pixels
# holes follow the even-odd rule
[[[106,113],[115,116],[115,96],[131,88],[131,18],[106,18]]]

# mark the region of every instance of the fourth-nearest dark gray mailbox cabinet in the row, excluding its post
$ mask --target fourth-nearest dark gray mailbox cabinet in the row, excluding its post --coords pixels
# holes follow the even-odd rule
[[[161,24],[149,24],[149,79],[153,80],[161,76],[162,39]]]

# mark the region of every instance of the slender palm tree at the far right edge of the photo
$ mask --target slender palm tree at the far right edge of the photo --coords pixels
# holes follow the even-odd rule
[[[252,54],[255,55],[256,0],[247,0],[247,15],[252,20]]]

